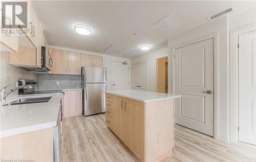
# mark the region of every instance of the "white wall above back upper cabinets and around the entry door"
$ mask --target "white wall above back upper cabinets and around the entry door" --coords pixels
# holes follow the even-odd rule
[[[56,46],[51,46],[51,45],[49,47],[52,48],[52,49],[60,49],[60,50],[79,52],[79,53],[82,53],[82,54],[102,56],[102,59],[103,59],[102,66],[106,67],[106,69],[107,69],[106,90],[111,90],[111,62],[112,61],[116,61],[116,62],[127,61],[127,63],[131,66],[131,59],[127,59],[127,58],[115,57],[115,56],[110,56],[110,55],[102,55],[102,54],[98,54],[97,52],[89,52],[89,51],[81,51],[81,50],[75,50],[75,49],[61,48],[61,47],[56,47]],[[127,75],[129,76],[129,80],[130,80],[130,83],[131,83],[131,68],[130,68],[129,74],[127,74]]]

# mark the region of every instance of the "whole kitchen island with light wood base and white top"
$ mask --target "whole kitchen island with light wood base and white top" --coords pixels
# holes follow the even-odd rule
[[[174,99],[180,95],[107,90],[105,122],[140,161],[174,152]]]

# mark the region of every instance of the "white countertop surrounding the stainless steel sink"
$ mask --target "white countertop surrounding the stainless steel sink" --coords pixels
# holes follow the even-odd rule
[[[50,97],[48,102],[2,106],[20,98]],[[1,103],[1,137],[55,127],[61,93],[16,95]]]

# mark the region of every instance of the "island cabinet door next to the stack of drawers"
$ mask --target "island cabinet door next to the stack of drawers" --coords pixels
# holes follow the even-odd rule
[[[122,97],[113,95],[113,131],[124,142],[124,101]]]

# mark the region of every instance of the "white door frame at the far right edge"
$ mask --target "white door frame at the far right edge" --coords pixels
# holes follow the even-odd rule
[[[239,35],[256,30],[256,23],[252,23],[230,31],[229,52],[229,142],[239,141]]]

